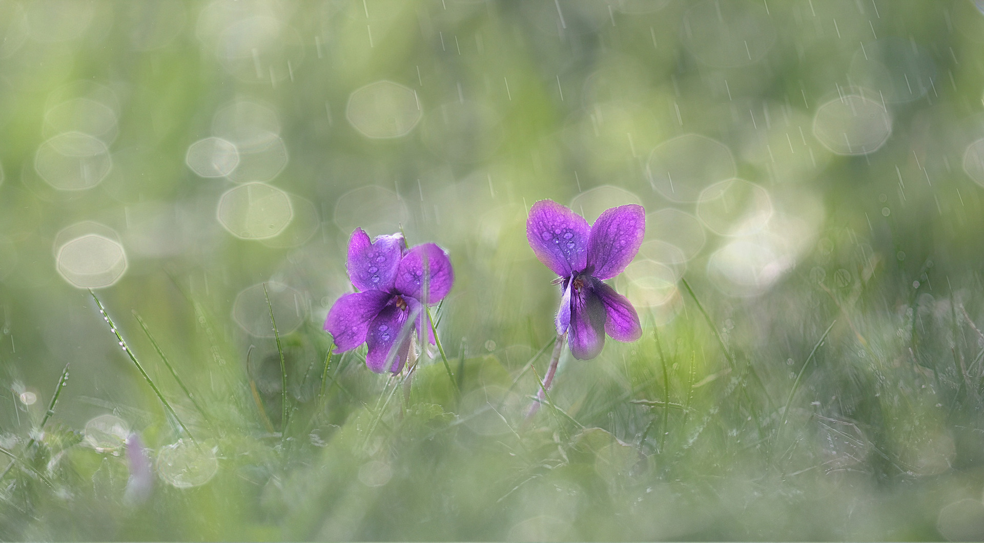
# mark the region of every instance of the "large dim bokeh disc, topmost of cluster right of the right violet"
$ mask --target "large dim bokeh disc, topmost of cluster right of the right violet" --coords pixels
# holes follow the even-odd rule
[[[708,186],[737,175],[734,156],[724,144],[684,134],[659,144],[646,163],[649,184],[671,202],[697,202]]]

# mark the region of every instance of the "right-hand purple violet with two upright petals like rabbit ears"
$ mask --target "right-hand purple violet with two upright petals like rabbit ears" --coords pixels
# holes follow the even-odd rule
[[[642,206],[604,211],[593,226],[552,200],[540,200],[529,210],[526,239],[543,266],[560,275],[563,294],[557,311],[557,334],[568,333],[575,358],[597,356],[605,333],[619,341],[635,341],[642,336],[636,308],[602,281],[629,266],[645,233],[646,211]]]

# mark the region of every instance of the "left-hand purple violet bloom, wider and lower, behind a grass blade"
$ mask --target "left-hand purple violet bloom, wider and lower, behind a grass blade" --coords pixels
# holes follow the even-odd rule
[[[406,248],[400,234],[369,241],[362,228],[348,239],[348,278],[358,290],[338,298],[325,330],[336,352],[365,343],[366,365],[376,373],[399,373],[410,349],[410,332],[434,342],[424,308],[444,299],[455,271],[443,249],[433,243]]]

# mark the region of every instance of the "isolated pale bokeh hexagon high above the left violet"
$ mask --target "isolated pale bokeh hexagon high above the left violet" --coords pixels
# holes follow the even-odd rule
[[[399,138],[417,125],[423,111],[412,89],[392,81],[378,81],[352,91],[345,117],[368,138]]]

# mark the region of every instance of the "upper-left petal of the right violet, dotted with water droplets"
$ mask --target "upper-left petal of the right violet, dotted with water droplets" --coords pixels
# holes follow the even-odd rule
[[[584,271],[590,227],[584,217],[552,200],[529,209],[526,240],[543,266],[562,277]]]

